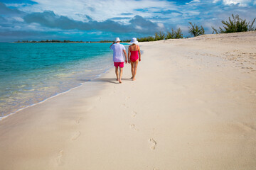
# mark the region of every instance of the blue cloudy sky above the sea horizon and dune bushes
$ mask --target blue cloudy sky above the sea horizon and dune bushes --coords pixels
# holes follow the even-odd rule
[[[0,42],[122,40],[181,28],[222,26],[232,13],[252,21],[256,0],[0,0]]]

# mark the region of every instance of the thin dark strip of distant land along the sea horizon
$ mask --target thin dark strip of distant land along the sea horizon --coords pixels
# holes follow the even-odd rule
[[[130,42],[131,40],[123,40],[121,42]],[[71,40],[41,40],[41,41],[36,41],[36,40],[18,40],[18,41],[15,41],[15,42],[18,42],[18,43],[27,43],[27,42],[60,42],[60,43],[90,43],[90,42],[113,42],[112,40],[100,40],[100,41],[71,41]]]

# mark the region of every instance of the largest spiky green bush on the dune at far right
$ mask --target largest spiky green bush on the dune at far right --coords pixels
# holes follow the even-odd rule
[[[213,28],[213,33],[238,33],[238,32],[245,32],[245,31],[251,31],[256,30],[256,28],[253,26],[255,23],[255,19],[250,24],[246,22],[246,19],[242,19],[239,17],[239,15],[232,14],[232,19],[229,17],[228,21],[221,21],[223,23],[223,28],[219,27],[219,30]]]

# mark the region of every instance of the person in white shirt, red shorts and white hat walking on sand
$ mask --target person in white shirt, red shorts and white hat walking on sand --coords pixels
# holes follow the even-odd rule
[[[122,72],[123,72],[123,68],[124,68],[124,56],[125,56],[125,64],[126,64],[127,63],[127,53],[125,51],[124,45],[120,44],[119,38],[115,38],[112,45],[110,45],[110,49],[113,50],[113,61],[114,61],[115,73],[117,75],[117,81],[119,81],[119,83],[122,83]],[[118,67],[119,67],[120,73],[118,72]]]

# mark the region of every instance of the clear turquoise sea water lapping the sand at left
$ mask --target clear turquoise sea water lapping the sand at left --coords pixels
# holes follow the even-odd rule
[[[112,66],[109,43],[0,43],[0,119],[95,79]]]

